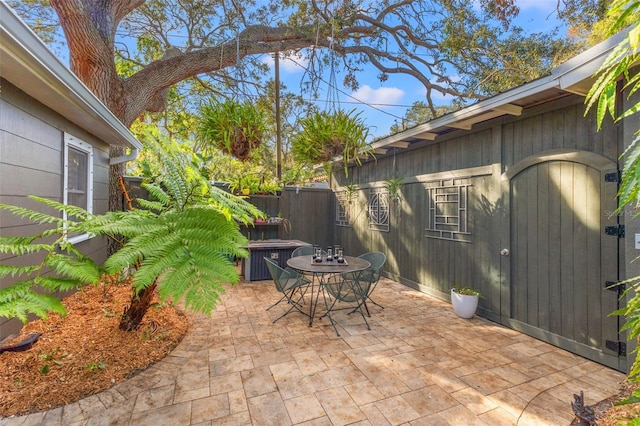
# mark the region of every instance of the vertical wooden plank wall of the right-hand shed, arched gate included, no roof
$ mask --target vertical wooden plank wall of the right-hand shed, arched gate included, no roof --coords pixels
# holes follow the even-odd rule
[[[602,294],[600,281],[609,279],[607,253],[615,267],[619,243],[601,235],[610,219],[593,194],[614,200],[615,184],[606,186],[603,176],[615,169],[620,141],[611,120],[598,132],[595,112],[585,116],[584,109],[583,98],[567,95],[521,116],[391,148],[348,176],[336,168],[336,192],[347,183],[359,187],[351,226],[336,227],[336,243],[353,254],[387,253],[388,276],[445,300],[456,284],[475,287],[484,296],[480,315],[549,341],[562,336],[565,348],[617,367],[602,350],[616,329],[606,320],[615,298]],[[563,153],[572,159],[554,157]],[[404,179],[401,207],[392,209],[389,232],[369,229],[368,191],[389,177]],[[426,236],[428,188],[442,182],[470,185],[468,242]],[[503,248],[511,257],[501,256]],[[594,306],[599,312],[588,312]]]

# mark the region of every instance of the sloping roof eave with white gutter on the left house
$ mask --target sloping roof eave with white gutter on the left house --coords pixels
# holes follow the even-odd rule
[[[129,129],[3,1],[0,76],[106,143],[142,149]]]

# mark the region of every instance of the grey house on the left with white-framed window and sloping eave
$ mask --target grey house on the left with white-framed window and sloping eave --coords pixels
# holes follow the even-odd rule
[[[116,162],[135,158],[142,145],[4,2],[0,17],[0,202],[35,207],[27,196],[37,195],[107,211],[110,145],[132,149]],[[1,235],[25,235],[30,226],[0,211]],[[104,239],[69,238],[85,254],[106,258]],[[20,326],[0,317],[0,339]]]

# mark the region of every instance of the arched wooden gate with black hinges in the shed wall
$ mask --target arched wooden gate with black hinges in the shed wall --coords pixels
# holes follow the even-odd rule
[[[529,159],[510,176],[508,322],[620,369],[616,165],[593,153]],[[503,303],[506,302],[503,299]],[[505,312],[504,310],[503,312]]]

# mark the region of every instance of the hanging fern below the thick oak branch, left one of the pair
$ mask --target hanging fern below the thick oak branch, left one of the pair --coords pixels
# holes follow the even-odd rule
[[[195,149],[216,148],[246,161],[262,143],[265,114],[251,102],[212,100],[200,107]]]

